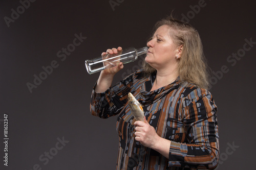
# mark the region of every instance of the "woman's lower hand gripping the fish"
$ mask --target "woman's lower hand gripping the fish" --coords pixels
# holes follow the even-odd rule
[[[160,136],[158,136],[156,133],[155,128],[148,124],[145,116],[144,122],[138,120],[134,123],[134,125],[136,126],[135,140],[139,141],[145,147],[155,148],[157,140],[160,138]]]

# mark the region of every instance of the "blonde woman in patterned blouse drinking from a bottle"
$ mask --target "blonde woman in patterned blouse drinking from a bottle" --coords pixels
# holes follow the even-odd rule
[[[208,77],[198,32],[167,17],[156,23],[147,46],[143,69],[113,87],[122,63],[103,70],[92,93],[93,115],[118,114],[117,169],[214,169],[219,157],[217,106],[206,90]],[[143,106],[144,122],[131,114],[129,92]]]

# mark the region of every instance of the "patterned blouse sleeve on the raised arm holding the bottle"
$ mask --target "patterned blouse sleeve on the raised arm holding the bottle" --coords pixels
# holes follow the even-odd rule
[[[117,115],[126,104],[127,95],[131,91],[133,84],[133,75],[126,77],[102,93],[95,92],[96,84],[93,87],[91,96],[91,114],[100,118],[108,118]]]

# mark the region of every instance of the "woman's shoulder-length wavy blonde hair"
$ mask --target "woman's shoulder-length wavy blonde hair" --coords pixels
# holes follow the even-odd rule
[[[169,35],[174,43],[183,45],[177,68],[181,83],[188,82],[207,89],[209,87],[208,66],[203,55],[203,46],[197,30],[188,23],[168,16],[156,23],[153,34],[163,25],[169,26]],[[145,75],[150,75],[156,71],[145,61],[143,69]]]

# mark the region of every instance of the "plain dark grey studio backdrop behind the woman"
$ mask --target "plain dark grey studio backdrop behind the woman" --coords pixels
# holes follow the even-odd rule
[[[113,8],[110,2],[37,0],[8,27],[4,18],[11,18],[11,9],[17,11],[21,4],[1,0],[0,169],[115,169],[116,117],[90,114],[91,91],[99,73],[89,75],[84,61],[99,57],[107,48],[145,46],[155,22],[173,10],[179,19],[190,17],[208,65],[217,75],[211,79],[210,91],[219,109],[218,169],[253,168],[256,44],[246,45],[250,50],[242,52],[245,39],[256,41],[255,2],[113,0],[117,3]],[[199,2],[204,7],[193,12]],[[87,38],[61,61],[57,52],[80,33]],[[227,61],[238,52],[242,57],[236,63]],[[39,76],[42,66],[53,60],[58,67],[30,92],[27,83],[34,84],[34,75]],[[125,64],[114,83],[136,65],[138,60]],[[225,73],[221,73],[223,65]],[[8,166],[3,161],[4,114],[8,115]],[[57,138],[62,137],[65,146],[57,150]],[[47,158],[47,152],[54,156],[48,162],[40,160],[41,155]]]

